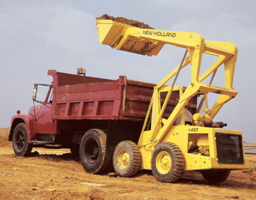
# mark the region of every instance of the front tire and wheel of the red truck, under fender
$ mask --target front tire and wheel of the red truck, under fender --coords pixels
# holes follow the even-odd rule
[[[33,144],[28,142],[26,124],[20,123],[15,127],[12,136],[12,147],[15,155],[26,157],[31,153]]]

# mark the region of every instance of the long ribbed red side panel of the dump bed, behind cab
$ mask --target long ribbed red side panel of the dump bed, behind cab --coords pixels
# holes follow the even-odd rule
[[[104,120],[122,117],[123,76],[118,80],[106,80],[57,73],[57,77],[52,112],[54,120]]]

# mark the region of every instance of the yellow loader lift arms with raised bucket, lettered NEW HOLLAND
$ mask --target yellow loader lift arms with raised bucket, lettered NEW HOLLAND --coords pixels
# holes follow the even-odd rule
[[[220,94],[211,110],[205,112],[209,116],[209,120],[216,116],[223,104],[237,95],[237,91],[232,87],[237,59],[237,48],[234,44],[222,41],[205,41],[202,35],[195,32],[140,29],[131,25],[114,22],[113,20],[97,20],[96,24],[100,43],[118,50],[152,56],[157,55],[166,44],[185,48],[189,52],[188,57],[184,57],[181,64],[174,68],[154,88],[154,94],[141,132],[141,135],[143,135],[147,120],[151,117],[150,137],[147,143],[145,143],[145,139],[143,143],[142,139],[140,139],[138,145],[147,145],[149,143],[154,147],[158,145],[179,115],[181,115],[182,123],[184,124],[184,107],[196,94],[204,94],[205,97],[207,97],[208,92]],[[219,59],[205,73],[199,76],[203,54],[218,56]],[[180,69],[185,68],[188,64],[191,64],[191,82],[188,87],[175,87],[175,81],[172,86],[164,86],[174,76],[176,76],[176,80]],[[209,85],[202,83],[210,75],[213,75],[213,79],[216,71],[223,64],[225,66],[224,88],[216,87],[211,85],[211,83]],[[173,90],[180,90],[179,103],[177,103],[170,116],[164,119],[163,113]],[[160,92],[168,92],[162,108]]]

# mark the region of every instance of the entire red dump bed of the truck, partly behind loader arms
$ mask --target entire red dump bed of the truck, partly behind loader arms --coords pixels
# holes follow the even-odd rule
[[[77,76],[49,70],[53,77],[52,115],[54,120],[140,120],[147,115],[154,84],[127,80],[108,80]],[[172,111],[179,101],[179,92],[168,103]],[[190,110],[196,109],[196,103]]]

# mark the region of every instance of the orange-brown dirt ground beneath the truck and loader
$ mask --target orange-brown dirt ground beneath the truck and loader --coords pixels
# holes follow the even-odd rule
[[[178,183],[159,183],[149,171],[134,178],[91,175],[68,149],[33,149],[15,157],[0,136],[0,199],[256,199],[256,155],[248,171],[232,171],[226,182],[209,184],[198,173],[185,173]]]

